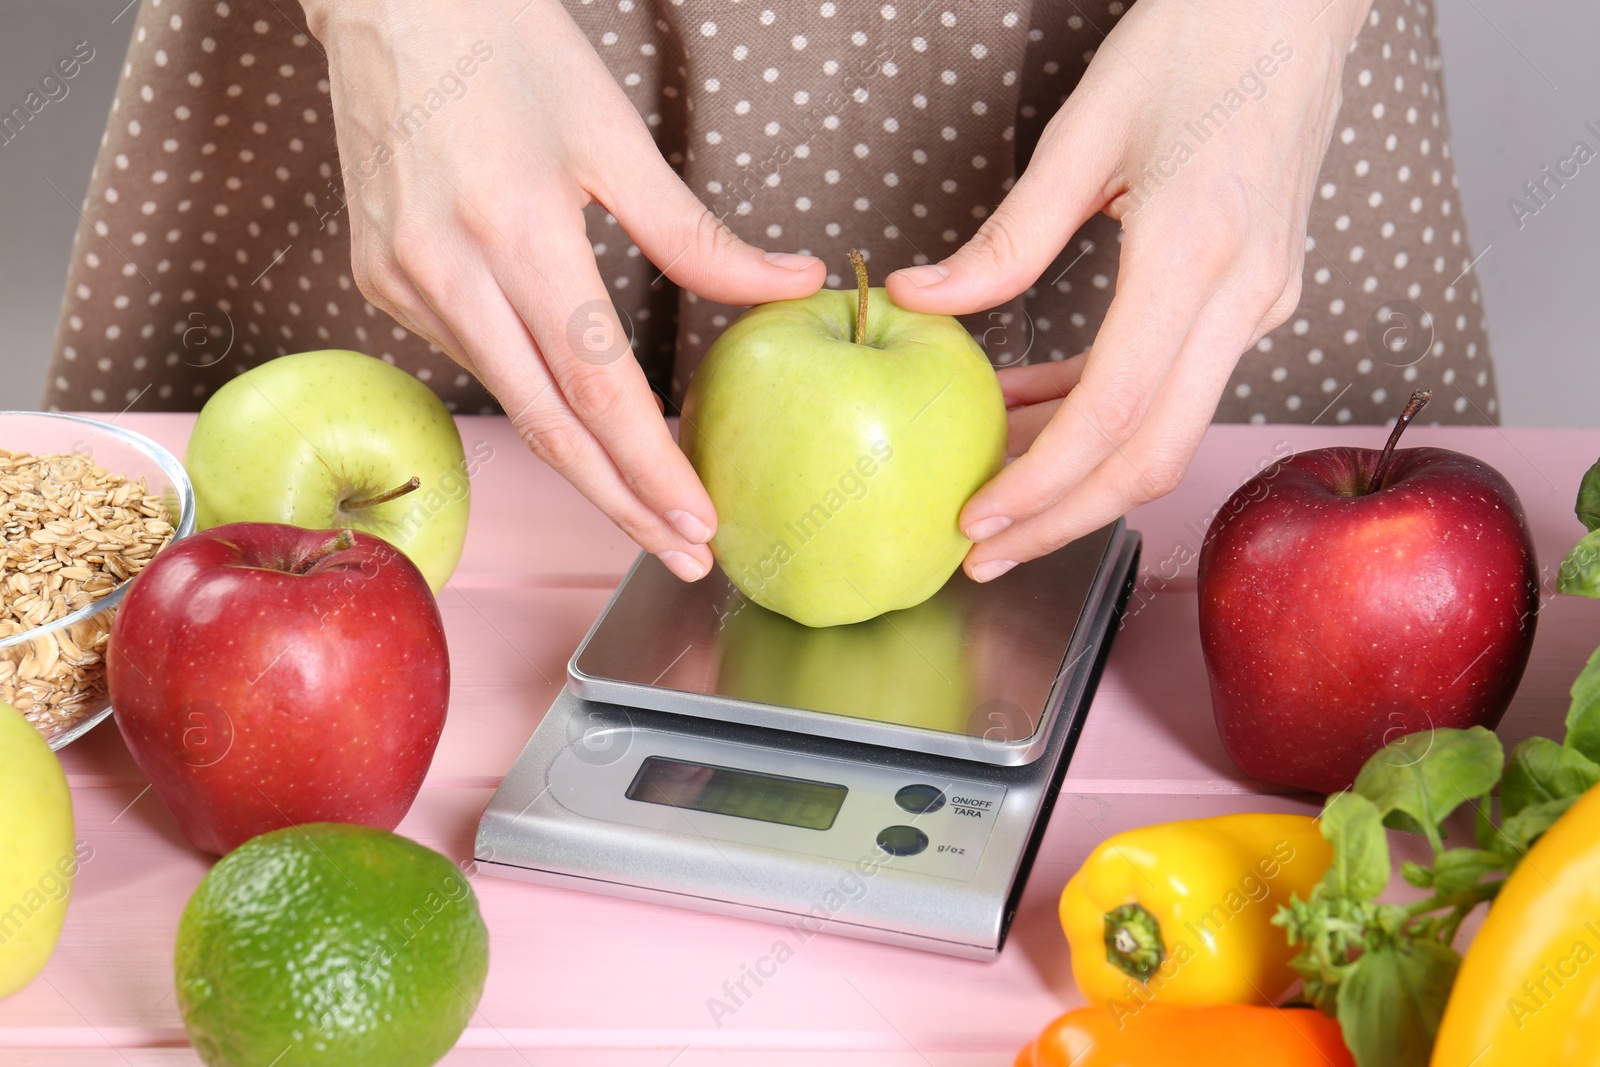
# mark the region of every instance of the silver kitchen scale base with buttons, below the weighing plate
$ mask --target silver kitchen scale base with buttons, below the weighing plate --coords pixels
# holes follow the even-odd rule
[[[1058,678],[1070,699],[1058,696],[1043,752],[1029,763],[622,707],[563,689],[483,813],[477,861],[493,875],[757,918],[802,941],[832,933],[992,960],[1083,728],[1138,553],[1138,534],[1123,534],[1107,561],[1106,595],[1078,621],[1083,651]],[[642,795],[651,763],[710,777],[688,800]],[[701,784],[718,776],[773,782],[778,793],[834,790],[842,800],[818,816],[755,795],[726,814]]]

